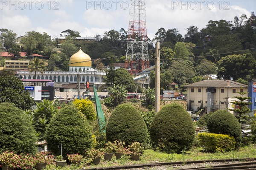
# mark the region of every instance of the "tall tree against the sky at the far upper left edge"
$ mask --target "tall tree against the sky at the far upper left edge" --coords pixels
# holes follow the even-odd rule
[[[0,29],[0,42],[3,44],[3,47],[6,51],[9,51],[16,44],[17,34],[12,30]]]

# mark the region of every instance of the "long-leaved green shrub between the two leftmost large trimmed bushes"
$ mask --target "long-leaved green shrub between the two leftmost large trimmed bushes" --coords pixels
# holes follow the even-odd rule
[[[53,114],[57,112],[57,106],[53,101],[44,99],[40,103],[36,103],[34,111],[33,125],[37,133],[39,133],[39,140],[44,140],[45,127],[49,124]]]

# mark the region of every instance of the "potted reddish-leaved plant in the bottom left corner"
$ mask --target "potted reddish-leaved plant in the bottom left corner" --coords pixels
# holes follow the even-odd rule
[[[6,150],[5,152],[0,154],[0,164],[2,164],[2,170],[12,170],[18,166],[18,160],[20,156],[15,154],[14,152],[9,152]]]

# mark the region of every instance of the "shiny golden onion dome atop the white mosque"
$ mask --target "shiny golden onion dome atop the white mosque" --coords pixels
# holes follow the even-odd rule
[[[70,57],[70,66],[72,67],[92,67],[92,60],[88,54],[81,49]]]

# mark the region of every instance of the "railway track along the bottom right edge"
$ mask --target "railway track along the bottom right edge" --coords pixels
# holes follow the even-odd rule
[[[238,163],[233,163],[234,161],[242,161]],[[231,162],[231,163],[230,163]],[[198,167],[188,167],[189,165],[195,164],[205,164]],[[210,163],[220,163],[219,165],[211,165]],[[225,163],[225,164],[224,164]],[[186,168],[182,166],[186,165]],[[204,160],[204,161],[186,161],[186,162],[162,162],[162,163],[151,163],[151,164],[132,164],[123,166],[113,166],[113,167],[95,167],[86,170],[128,170],[128,169],[159,169],[164,170],[164,168],[172,170],[256,170],[256,158],[252,159],[215,159],[215,160]],[[179,167],[179,168],[178,168]],[[177,168],[177,169],[175,169]],[[81,169],[84,170],[84,169]]]

